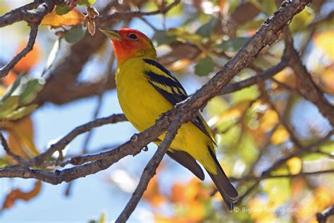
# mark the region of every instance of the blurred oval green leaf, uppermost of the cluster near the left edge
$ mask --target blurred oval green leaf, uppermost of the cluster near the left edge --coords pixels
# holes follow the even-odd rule
[[[20,93],[20,105],[23,104],[29,104],[32,102],[32,100],[35,99],[38,92],[42,90],[44,85],[43,79],[32,79],[28,80],[27,83],[25,83],[23,92]]]

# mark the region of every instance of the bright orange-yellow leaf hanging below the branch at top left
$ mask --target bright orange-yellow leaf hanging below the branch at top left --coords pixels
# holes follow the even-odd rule
[[[56,11],[52,11],[47,14],[42,20],[42,25],[51,25],[53,27],[59,27],[61,25],[78,25],[85,20],[85,16],[78,10],[73,9],[66,14],[59,16]]]

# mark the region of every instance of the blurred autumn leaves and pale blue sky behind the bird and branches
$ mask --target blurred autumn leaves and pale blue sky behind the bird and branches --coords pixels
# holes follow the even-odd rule
[[[28,2],[1,1],[0,12],[6,13]],[[94,117],[121,113],[115,90],[62,105],[46,103],[38,107],[35,104],[49,69],[66,54],[70,44],[89,35],[88,31],[92,33],[95,30],[94,12],[89,13],[91,17],[88,20],[80,12],[85,12],[86,7],[91,5],[100,11],[107,1],[79,3],[81,6],[71,11],[66,4],[57,6],[53,13],[46,16],[33,51],[2,80],[0,128],[6,130],[9,146],[21,157],[29,159],[38,155],[75,126]],[[156,10],[165,4],[165,1],[123,1],[123,6],[141,8],[142,11]],[[273,0],[183,1],[166,16],[120,21],[116,28],[129,26],[151,37],[161,63],[178,76],[191,94],[247,42],[266,17],[277,10],[277,4]],[[243,21],[242,16],[240,18],[242,13],[237,13],[237,10],[241,10],[242,5],[258,11],[252,20]],[[113,10],[117,8],[116,4]],[[333,1],[322,1],[299,13],[289,25],[304,64],[332,103],[334,30],[333,17],[326,16],[333,9]],[[226,20],[237,25],[224,23]],[[1,64],[25,47],[28,32],[29,28],[23,22],[1,28]],[[193,53],[183,54],[183,47],[189,47]],[[249,78],[278,64],[283,49],[283,41],[264,49],[252,66],[242,70],[233,81]],[[175,53],[171,54],[171,51]],[[78,81],[106,78],[115,65],[111,55],[111,44],[106,40],[85,65]],[[41,78],[42,75],[44,78]],[[292,69],[285,68],[266,83],[215,97],[207,104],[204,116],[216,133],[218,159],[229,176],[234,179],[259,176],[278,157],[296,149],[281,119],[290,123],[302,145],[316,142],[333,128],[313,104],[294,91],[296,85]],[[130,123],[103,126],[75,139],[63,155],[71,157],[110,149],[128,140],[135,132]],[[333,136],[317,148],[317,153],[293,157],[271,174],[333,169]],[[87,222],[89,219],[104,222],[115,219],[130,198],[144,165],[155,149],[156,146],[150,144],[149,151],[125,157],[106,171],[70,184],[51,186],[35,180],[0,179],[1,222]],[[3,150],[0,155],[1,166],[15,163]],[[242,194],[252,183],[245,180],[235,185]],[[226,213],[221,197],[213,194],[214,185],[208,177],[202,183],[165,157],[130,221],[314,222],[316,212],[333,205],[333,183],[333,174],[264,179],[242,199],[237,205],[238,210]]]

